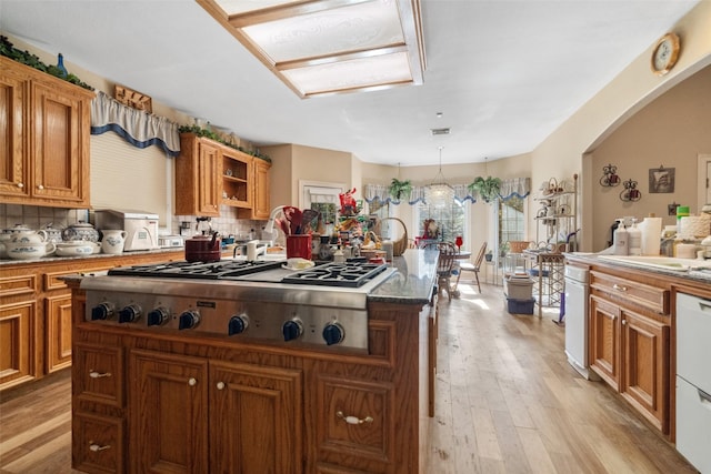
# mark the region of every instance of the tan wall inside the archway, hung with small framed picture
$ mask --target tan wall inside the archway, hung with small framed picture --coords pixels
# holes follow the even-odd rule
[[[591,194],[593,250],[602,250],[610,239],[610,225],[615,218],[649,213],[663,218],[664,225],[675,224],[667,205],[675,202],[690,205],[698,213],[698,154],[711,153],[711,67],[662,94],[612,132],[590,155],[593,178]],[[622,180],[638,182],[642,198],[622,202],[622,185],[604,188],[598,184],[602,167],[618,167]],[[660,165],[675,169],[673,193],[650,193],[649,170]],[[597,174],[595,174],[597,173]]]

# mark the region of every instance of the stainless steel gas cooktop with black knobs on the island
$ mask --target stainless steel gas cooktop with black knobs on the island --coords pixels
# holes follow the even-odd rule
[[[168,262],[82,280],[86,320],[136,331],[368,351],[368,294],[394,269],[286,260]]]

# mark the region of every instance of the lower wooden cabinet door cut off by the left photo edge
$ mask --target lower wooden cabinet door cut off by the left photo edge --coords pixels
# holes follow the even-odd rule
[[[34,371],[34,319],[37,303],[0,305],[0,387],[27,382]]]

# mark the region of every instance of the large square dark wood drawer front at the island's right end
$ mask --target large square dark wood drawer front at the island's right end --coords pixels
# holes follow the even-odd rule
[[[372,462],[378,466],[393,462],[392,384],[323,375],[318,381],[318,399],[317,406],[323,410],[318,425],[321,461],[340,464],[350,458],[351,467],[361,468]]]

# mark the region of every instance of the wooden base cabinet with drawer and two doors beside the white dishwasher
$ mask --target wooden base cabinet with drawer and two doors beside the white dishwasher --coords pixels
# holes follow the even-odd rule
[[[590,285],[591,370],[669,434],[669,283],[593,270]]]

